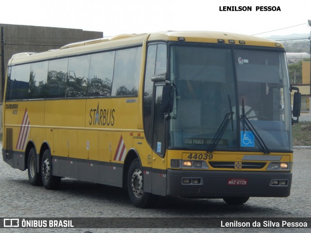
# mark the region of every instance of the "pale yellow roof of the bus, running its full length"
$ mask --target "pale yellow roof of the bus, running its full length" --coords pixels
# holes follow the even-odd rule
[[[18,53],[12,56],[9,61],[9,66],[19,63],[35,62],[51,58],[79,55],[98,50],[124,47],[127,45],[139,45],[146,41],[183,41],[284,48],[281,43],[273,40],[237,33],[208,31],[166,31],[142,34],[120,34],[111,37],[68,44],[58,50],[50,50],[40,53]]]

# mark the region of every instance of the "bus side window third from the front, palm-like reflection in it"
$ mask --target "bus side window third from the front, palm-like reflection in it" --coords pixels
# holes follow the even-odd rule
[[[89,55],[69,58],[66,97],[86,96],[89,58]]]

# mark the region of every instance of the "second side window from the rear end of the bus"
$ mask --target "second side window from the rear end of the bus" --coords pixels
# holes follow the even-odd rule
[[[29,81],[29,99],[45,98],[48,76],[48,62],[31,65]]]

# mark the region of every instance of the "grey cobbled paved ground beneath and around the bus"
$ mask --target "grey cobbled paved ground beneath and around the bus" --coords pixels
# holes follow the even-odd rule
[[[1,147],[1,145],[0,145]],[[27,171],[13,169],[0,156],[0,217],[311,217],[311,150],[294,150],[293,184],[288,198],[250,198],[239,207],[223,200],[161,198],[153,209],[138,209],[126,191],[63,179],[58,190],[28,183]],[[29,231],[31,230],[31,231]],[[147,229],[0,229],[0,232],[146,232]],[[149,232],[310,232],[311,229],[150,229]]]

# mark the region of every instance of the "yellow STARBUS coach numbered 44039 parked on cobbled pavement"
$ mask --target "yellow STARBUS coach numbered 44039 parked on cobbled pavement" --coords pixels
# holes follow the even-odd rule
[[[282,44],[235,33],[19,53],[7,68],[3,160],[47,189],[64,177],[127,188],[138,207],[158,196],[287,197],[293,89]]]

